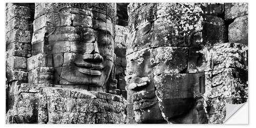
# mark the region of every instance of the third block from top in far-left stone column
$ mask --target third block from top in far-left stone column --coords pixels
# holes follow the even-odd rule
[[[24,42],[30,43],[31,35],[30,31],[13,29],[6,33],[6,44],[11,42]]]

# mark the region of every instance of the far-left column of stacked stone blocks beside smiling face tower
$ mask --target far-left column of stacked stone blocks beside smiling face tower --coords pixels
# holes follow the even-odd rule
[[[7,110],[15,100],[14,88],[28,81],[27,58],[31,56],[31,4],[6,4]]]

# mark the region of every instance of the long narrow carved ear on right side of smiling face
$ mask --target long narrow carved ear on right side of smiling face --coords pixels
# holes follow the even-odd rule
[[[111,68],[111,73],[106,83],[106,91],[111,94],[119,94],[119,90],[117,89],[117,79],[115,78],[116,69],[115,69],[115,62],[116,62],[116,54],[114,53],[113,56],[113,66]]]

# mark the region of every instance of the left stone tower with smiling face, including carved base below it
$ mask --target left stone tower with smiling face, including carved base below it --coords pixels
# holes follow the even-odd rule
[[[28,83],[12,87],[7,123],[125,122],[126,100],[115,79],[115,9],[114,3],[35,4],[32,56],[8,60],[7,68],[28,70]]]

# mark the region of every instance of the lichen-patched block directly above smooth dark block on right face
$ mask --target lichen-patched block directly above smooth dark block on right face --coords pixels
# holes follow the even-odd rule
[[[158,47],[151,50],[151,65],[155,75],[184,73],[187,69],[188,49],[182,47]]]

